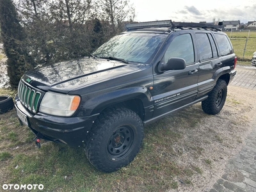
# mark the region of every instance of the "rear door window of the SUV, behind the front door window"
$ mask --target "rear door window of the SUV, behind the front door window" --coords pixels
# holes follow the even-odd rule
[[[206,33],[196,33],[196,42],[200,54],[200,61],[209,60],[212,56],[212,48]]]

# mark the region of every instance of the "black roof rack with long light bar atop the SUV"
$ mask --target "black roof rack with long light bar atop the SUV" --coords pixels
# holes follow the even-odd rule
[[[220,30],[221,22],[219,22],[219,26],[213,24],[205,24],[198,22],[172,22],[172,20],[156,20],[149,22],[136,22],[126,24],[125,28],[127,30],[131,29],[143,29],[143,28],[164,28],[167,27],[169,29],[182,29],[182,28],[202,28],[202,29],[216,29]]]

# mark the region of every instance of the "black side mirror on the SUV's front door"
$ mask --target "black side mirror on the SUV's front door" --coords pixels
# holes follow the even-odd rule
[[[159,70],[182,70],[186,68],[186,61],[182,58],[170,58],[167,63],[159,64]]]

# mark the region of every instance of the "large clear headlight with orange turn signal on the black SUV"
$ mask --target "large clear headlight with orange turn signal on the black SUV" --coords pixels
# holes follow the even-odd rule
[[[77,95],[47,92],[42,99],[39,111],[50,115],[71,116],[78,108],[80,100]]]

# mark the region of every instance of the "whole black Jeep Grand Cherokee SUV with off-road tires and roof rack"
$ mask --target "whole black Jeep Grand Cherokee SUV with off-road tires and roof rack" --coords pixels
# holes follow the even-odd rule
[[[236,75],[218,26],[171,20],[127,24],[91,56],[26,72],[15,98],[40,139],[84,147],[104,172],[129,164],[143,127],[197,102],[217,114]]]

